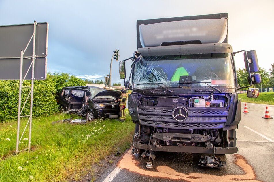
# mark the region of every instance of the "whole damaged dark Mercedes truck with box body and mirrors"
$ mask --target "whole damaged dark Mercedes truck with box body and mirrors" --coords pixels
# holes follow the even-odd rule
[[[237,84],[234,57],[240,52],[249,75],[245,87]],[[148,158],[147,168],[154,151],[207,154],[201,166],[225,166],[215,155],[238,151],[238,90],[261,82],[256,51],[233,52],[228,44],[228,13],[137,20],[128,80],[126,60],[119,72],[132,90],[132,153]],[[258,97],[251,89],[247,96]]]

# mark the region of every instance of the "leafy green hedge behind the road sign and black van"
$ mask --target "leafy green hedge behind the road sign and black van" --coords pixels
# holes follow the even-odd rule
[[[33,116],[52,115],[59,111],[55,100],[56,92],[63,86],[85,85],[84,80],[68,73],[47,74],[46,80],[35,80],[33,89]],[[23,86],[31,86],[30,80],[25,80]],[[30,92],[30,88],[22,88],[21,108]],[[18,80],[0,80],[0,122],[17,119],[18,113]],[[30,97],[21,115],[30,113]]]

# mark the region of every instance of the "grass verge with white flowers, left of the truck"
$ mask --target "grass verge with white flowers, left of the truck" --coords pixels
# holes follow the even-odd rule
[[[128,113],[123,123],[97,119],[85,125],[51,124],[69,117],[72,116],[57,114],[33,119],[32,151],[19,152],[18,155],[14,155],[17,121],[1,124],[0,181],[78,180],[92,171],[92,164],[112,152],[124,152],[130,147],[134,125]],[[26,123],[22,120],[21,134]],[[19,150],[27,148],[27,138],[28,131],[22,137]]]

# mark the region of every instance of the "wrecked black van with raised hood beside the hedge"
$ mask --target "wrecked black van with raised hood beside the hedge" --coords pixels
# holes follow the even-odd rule
[[[61,112],[71,111],[87,120],[97,117],[119,117],[120,92],[94,86],[63,87],[55,97]]]

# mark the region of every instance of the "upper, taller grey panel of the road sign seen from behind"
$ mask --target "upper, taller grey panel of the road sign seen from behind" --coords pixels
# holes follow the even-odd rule
[[[33,35],[33,24],[0,26],[0,59],[20,58]],[[48,54],[48,23],[37,23],[35,36],[36,57],[46,57]],[[25,50],[24,57],[32,57],[33,39]]]

